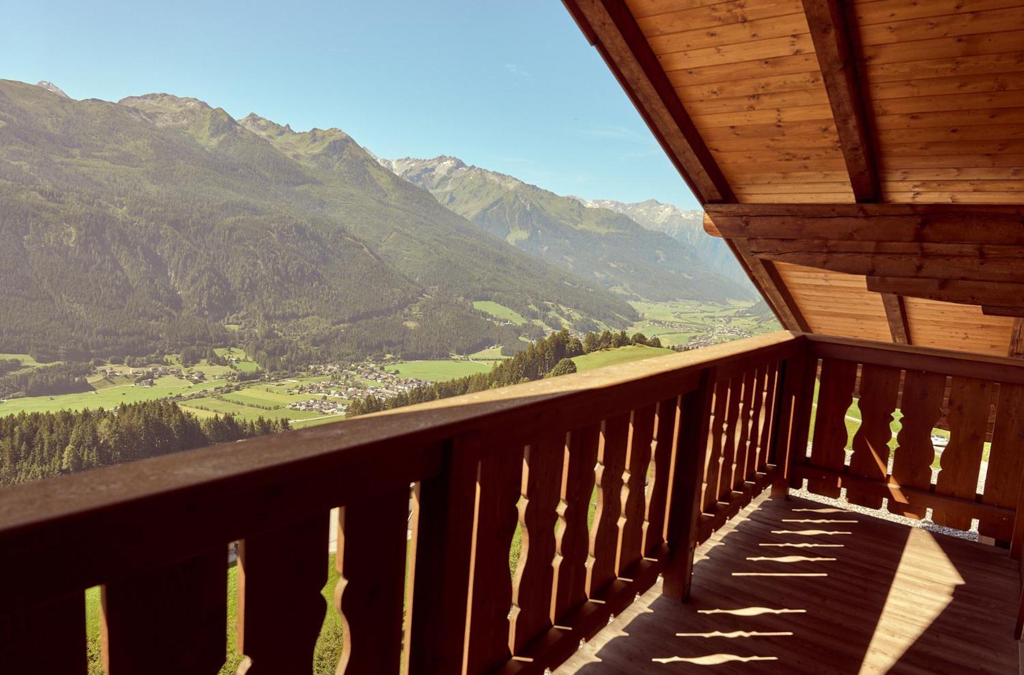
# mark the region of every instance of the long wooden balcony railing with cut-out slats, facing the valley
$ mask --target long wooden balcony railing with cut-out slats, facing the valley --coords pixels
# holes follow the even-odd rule
[[[216,673],[241,541],[240,672],[310,672],[337,611],[339,672],[540,673],[659,574],[686,597],[696,544],[799,435],[804,345],[775,333],[0,492],[0,671],[87,672],[83,592],[101,585],[108,672]]]

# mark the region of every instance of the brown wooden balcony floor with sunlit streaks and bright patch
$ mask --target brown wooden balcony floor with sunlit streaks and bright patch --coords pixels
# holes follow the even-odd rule
[[[556,675],[1018,672],[1002,549],[767,499],[697,559],[692,602],[655,585]]]

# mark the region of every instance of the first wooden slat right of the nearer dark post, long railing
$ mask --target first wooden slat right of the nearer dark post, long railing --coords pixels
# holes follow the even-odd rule
[[[466,619],[467,673],[485,673],[504,665],[509,650],[509,608],[512,579],[509,548],[518,513],[523,447],[506,446],[497,456],[480,460],[476,480],[476,521]],[[546,598],[542,598],[542,601]]]

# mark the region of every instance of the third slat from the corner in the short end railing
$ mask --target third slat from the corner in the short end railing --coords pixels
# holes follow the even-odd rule
[[[864,366],[865,368],[867,365]],[[932,484],[932,430],[942,414],[946,376],[924,370],[907,370],[903,382],[900,411],[903,418],[896,437],[892,478],[899,485],[928,490]],[[889,500],[889,510],[906,518],[925,518],[925,508]]]

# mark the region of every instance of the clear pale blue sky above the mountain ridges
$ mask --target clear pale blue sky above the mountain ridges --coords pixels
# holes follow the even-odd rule
[[[588,198],[696,201],[557,0],[0,0],[0,78],[165,91]]]

